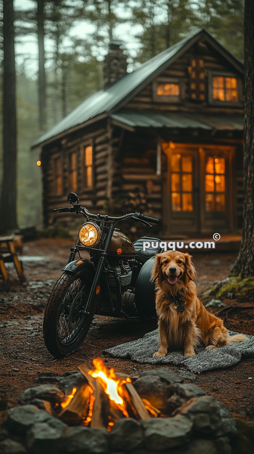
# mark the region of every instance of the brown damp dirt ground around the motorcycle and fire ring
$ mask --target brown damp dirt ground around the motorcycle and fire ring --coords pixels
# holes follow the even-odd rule
[[[132,341],[155,329],[156,321],[135,321],[95,316],[82,347],[66,359],[55,360],[46,350],[42,323],[44,306],[54,281],[61,274],[73,242],[66,239],[40,239],[24,244],[24,272],[27,281],[20,284],[10,264],[11,285],[0,293],[0,410],[17,405],[20,394],[30,386],[39,385],[38,375],[44,371],[64,373],[92,360],[102,350]],[[216,280],[228,276],[235,253],[197,253],[194,264],[198,270],[199,293]],[[40,258],[39,258],[40,257]],[[33,259],[33,260],[32,260]],[[224,300],[227,307],[221,317],[232,331],[253,334],[254,302],[239,304]],[[248,309],[247,306],[253,306]],[[244,309],[244,307],[246,307]],[[220,309],[213,309],[217,315]],[[129,360],[106,359],[108,367],[118,372],[137,375],[151,365],[138,365]],[[172,366],[173,370],[177,367]],[[188,381],[188,380],[187,380]],[[196,375],[195,385],[219,400],[237,418],[254,422],[254,359],[244,358],[234,367]]]

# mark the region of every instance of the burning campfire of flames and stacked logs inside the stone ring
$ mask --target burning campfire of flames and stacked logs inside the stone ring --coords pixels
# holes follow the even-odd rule
[[[86,383],[74,387],[58,405],[57,413],[62,421],[110,431],[121,418],[142,420],[161,415],[148,400],[141,399],[130,377],[108,370],[99,358],[93,360],[93,365],[94,370],[83,364],[78,366]]]

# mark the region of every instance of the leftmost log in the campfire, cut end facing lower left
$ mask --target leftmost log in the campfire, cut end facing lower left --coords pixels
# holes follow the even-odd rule
[[[59,413],[59,418],[70,425],[80,424],[88,413],[90,394],[89,386],[82,385],[69,405]]]

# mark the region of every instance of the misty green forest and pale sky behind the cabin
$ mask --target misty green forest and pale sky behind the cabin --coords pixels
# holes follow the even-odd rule
[[[244,0],[15,0],[14,9],[20,226],[42,223],[39,150],[30,146],[103,87],[111,40],[122,42],[128,72],[199,28],[244,59]],[[0,1],[1,115],[2,11]]]

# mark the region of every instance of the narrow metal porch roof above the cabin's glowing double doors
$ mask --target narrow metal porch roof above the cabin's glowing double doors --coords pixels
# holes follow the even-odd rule
[[[110,117],[127,128],[200,128],[207,130],[240,130],[244,128],[244,118],[226,114],[186,114],[161,113],[155,111],[119,110]]]

